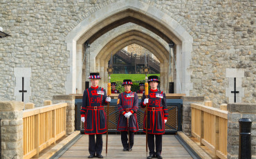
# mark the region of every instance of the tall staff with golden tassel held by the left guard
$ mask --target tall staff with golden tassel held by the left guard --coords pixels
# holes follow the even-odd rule
[[[113,72],[113,59],[112,59],[112,53],[110,57],[110,64],[109,67],[107,68],[107,72],[109,73],[109,79],[108,79],[108,84],[107,84],[107,96],[109,97],[111,95],[111,83],[110,83],[110,75]],[[106,158],[107,158],[107,141],[109,137],[109,102],[107,102],[107,133],[106,133]]]

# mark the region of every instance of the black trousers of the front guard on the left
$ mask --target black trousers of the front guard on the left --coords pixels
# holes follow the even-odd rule
[[[102,134],[96,134],[96,142],[95,135],[89,135],[89,153],[90,155],[99,155],[102,153]]]

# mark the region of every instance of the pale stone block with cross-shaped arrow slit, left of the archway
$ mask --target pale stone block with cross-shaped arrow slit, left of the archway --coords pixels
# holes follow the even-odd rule
[[[31,96],[31,87],[30,87],[30,78],[31,78],[31,68],[14,68],[15,73],[15,97],[16,101],[22,101],[22,93],[19,92],[22,90],[22,77],[24,77],[24,103],[30,102]]]

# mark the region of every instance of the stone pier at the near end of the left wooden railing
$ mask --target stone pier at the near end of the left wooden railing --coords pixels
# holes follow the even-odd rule
[[[0,102],[1,154],[3,159],[23,158],[24,102]]]

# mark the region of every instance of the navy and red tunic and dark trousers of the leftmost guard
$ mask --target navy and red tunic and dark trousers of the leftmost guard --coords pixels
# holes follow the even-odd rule
[[[89,134],[89,153],[92,156],[102,153],[102,133],[107,132],[104,104],[107,93],[99,86],[88,88],[82,98],[81,117],[85,117],[84,133]],[[96,142],[95,142],[96,135]]]

